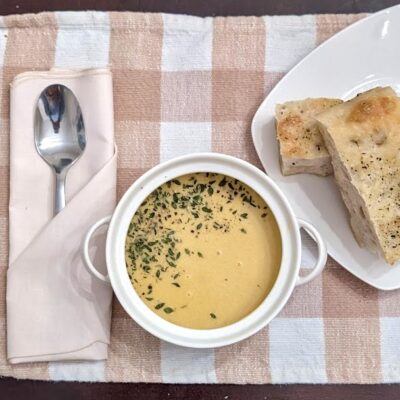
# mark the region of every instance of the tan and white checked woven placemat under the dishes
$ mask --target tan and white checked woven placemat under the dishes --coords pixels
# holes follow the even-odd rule
[[[2,18],[0,374],[124,382],[400,382],[400,291],[377,291],[332,259],[318,279],[294,291],[266,329],[236,345],[194,350],[160,342],[115,301],[105,362],[11,366],[5,353],[9,83],[17,73],[111,66],[120,196],[150,167],[185,153],[217,151],[260,167],[250,135],[260,102],[310,50],[361,17],[61,12]]]

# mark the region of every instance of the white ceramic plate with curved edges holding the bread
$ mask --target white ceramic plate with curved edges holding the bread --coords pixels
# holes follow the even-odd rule
[[[390,266],[358,246],[334,179],[281,174],[274,113],[277,103],[307,97],[347,100],[386,85],[400,93],[400,6],[356,22],[304,58],[261,104],[252,135],[266,172],[288,197],[296,215],[319,229],[329,254],[364,282],[393,290],[400,288],[400,265]]]

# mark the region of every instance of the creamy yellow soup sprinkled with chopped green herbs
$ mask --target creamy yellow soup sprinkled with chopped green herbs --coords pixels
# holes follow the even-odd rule
[[[239,321],[270,292],[282,256],[275,218],[248,186],[213,173],[157,188],[125,244],[133,287],[160,317],[188,328]]]

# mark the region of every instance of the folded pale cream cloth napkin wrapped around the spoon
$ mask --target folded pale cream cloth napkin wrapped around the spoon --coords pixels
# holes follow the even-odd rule
[[[53,83],[76,95],[87,138],[84,154],[68,172],[67,204],[57,216],[53,171],[36,152],[33,132],[38,96]],[[81,245],[88,227],[111,214],[116,202],[111,73],[22,73],[12,82],[10,101],[8,360],[106,359],[112,291],[86,271]],[[100,240],[92,246],[97,263],[104,260]]]

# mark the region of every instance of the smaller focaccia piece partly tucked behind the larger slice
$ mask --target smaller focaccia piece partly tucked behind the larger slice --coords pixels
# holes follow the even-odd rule
[[[305,99],[278,104],[275,109],[279,158],[283,175],[330,175],[332,165],[315,115],[341,103],[338,99]]]

